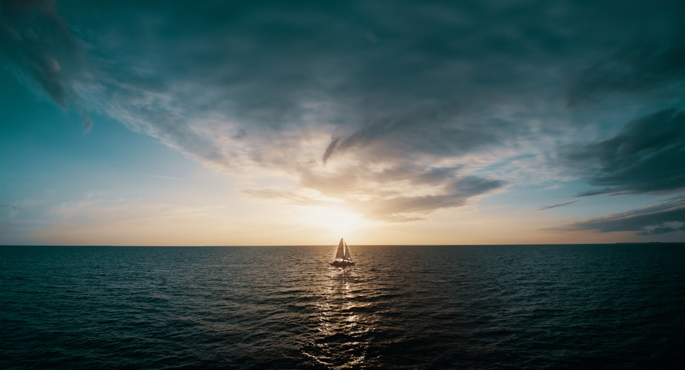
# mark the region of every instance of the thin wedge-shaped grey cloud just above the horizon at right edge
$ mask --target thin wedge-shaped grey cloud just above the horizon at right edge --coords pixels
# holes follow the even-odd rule
[[[560,230],[634,232],[640,236],[685,231],[685,197],[669,199],[638,210],[569,224]]]

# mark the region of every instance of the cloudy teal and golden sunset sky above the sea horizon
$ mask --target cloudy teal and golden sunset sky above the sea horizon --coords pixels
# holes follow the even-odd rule
[[[0,1],[1,245],[685,241],[682,1]]]

